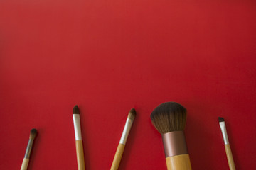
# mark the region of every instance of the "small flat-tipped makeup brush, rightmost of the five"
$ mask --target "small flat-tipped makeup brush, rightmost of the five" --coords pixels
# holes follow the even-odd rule
[[[229,144],[229,141],[228,141],[228,133],[227,133],[227,130],[225,128],[224,118],[219,117],[218,120],[219,120],[219,123],[220,123],[220,130],[223,134],[223,140],[224,140],[224,144],[225,144],[225,152],[227,154],[227,159],[228,159],[228,166],[229,166],[230,170],[235,170],[235,163],[234,163],[234,160],[233,160],[232,152],[231,152],[231,149],[230,149],[230,144]]]

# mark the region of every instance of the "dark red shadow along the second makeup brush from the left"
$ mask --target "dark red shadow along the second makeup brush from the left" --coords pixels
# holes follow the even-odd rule
[[[87,152],[89,149],[89,144],[87,142],[87,140],[84,139],[89,139],[89,137],[87,136],[87,129],[90,129],[89,127],[86,127],[86,125],[88,125],[87,122],[85,122],[84,119],[85,117],[85,108],[82,105],[79,105],[79,111],[80,111],[80,123],[81,123],[81,132],[82,132],[82,145],[83,145],[83,149],[84,149],[84,157],[85,157],[85,169],[92,169],[91,164],[90,164],[90,155],[89,152]]]

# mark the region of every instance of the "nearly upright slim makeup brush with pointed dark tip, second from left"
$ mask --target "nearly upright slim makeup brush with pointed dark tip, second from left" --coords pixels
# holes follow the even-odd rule
[[[85,170],[85,158],[84,158],[84,152],[82,147],[80,113],[77,105],[73,108],[73,123],[75,128],[75,147],[76,147],[77,160],[78,160],[78,170]]]

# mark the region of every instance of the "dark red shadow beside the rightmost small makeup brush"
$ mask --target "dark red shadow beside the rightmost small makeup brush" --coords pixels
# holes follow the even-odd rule
[[[228,140],[230,142],[230,148],[231,148],[231,152],[232,152],[232,156],[233,156],[233,159],[234,159],[234,163],[235,163],[235,168],[236,169],[241,169],[241,166],[240,166],[240,163],[238,162],[238,153],[236,152],[235,150],[235,143],[232,142],[234,141],[234,138],[233,138],[233,130],[231,130],[230,128],[230,123],[229,121],[225,120],[225,125],[226,125],[226,130],[227,130],[227,133],[228,133]]]

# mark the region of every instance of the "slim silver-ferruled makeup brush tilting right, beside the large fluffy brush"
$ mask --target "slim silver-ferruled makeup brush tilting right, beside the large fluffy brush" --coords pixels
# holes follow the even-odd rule
[[[129,131],[132,128],[132,123],[134,122],[134,118],[136,116],[136,111],[134,108],[131,109],[131,111],[129,111],[128,117],[127,117],[127,121],[124,125],[124,130],[122,132],[122,137],[121,140],[119,142],[119,145],[117,147],[117,152],[114,155],[114,160],[112,162],[112,166],[110,168],[110,170],[117,170],[120,164],[120,161],[122,159],[122,154],[124,152],[124,147],[125,144],[127,142],[127,137],[129,135]]]

